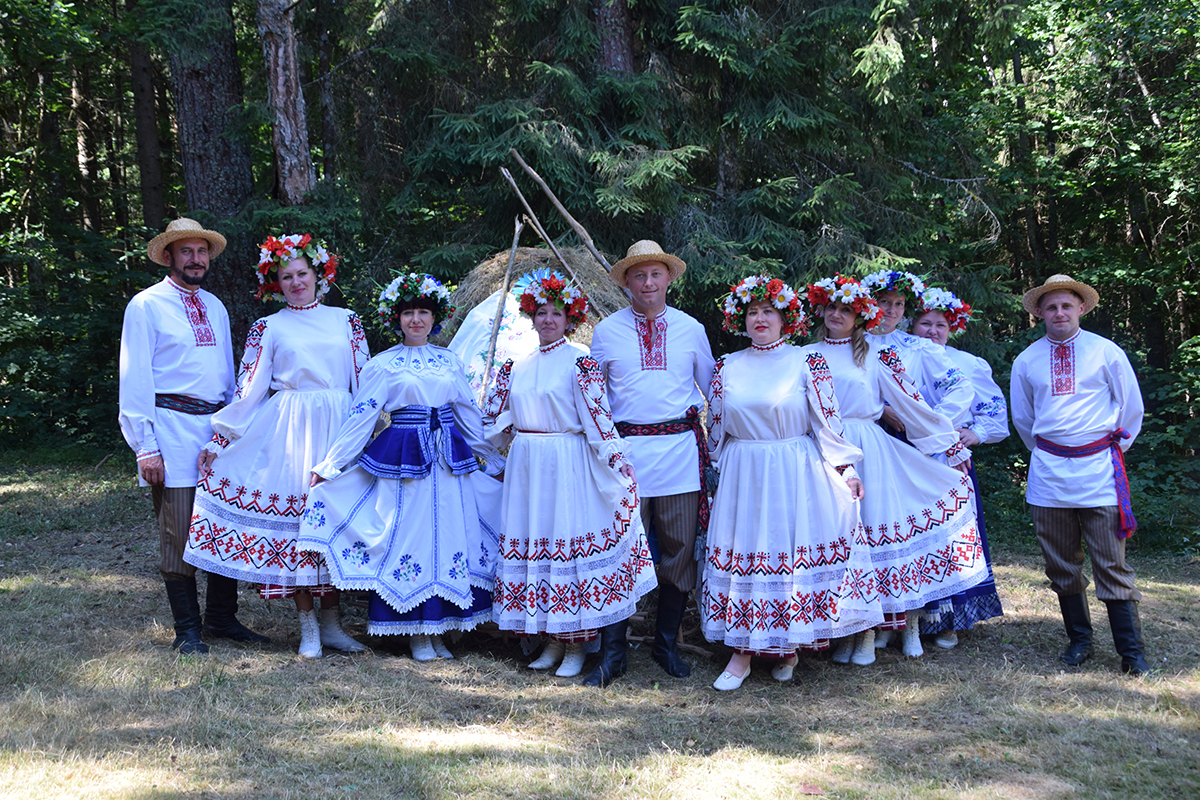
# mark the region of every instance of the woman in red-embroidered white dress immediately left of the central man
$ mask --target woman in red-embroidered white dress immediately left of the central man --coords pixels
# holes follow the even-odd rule
[[[550,270],[522,277],[512,295],[540,347],[500,368],[485,414],[491,440],[511,441],[492,619],[548,634],[529,668],[562,661],[556,674],[574,678],[584,643],[629,619],[658,579],[604,375],[566,339],[587,319],[587,297]]]

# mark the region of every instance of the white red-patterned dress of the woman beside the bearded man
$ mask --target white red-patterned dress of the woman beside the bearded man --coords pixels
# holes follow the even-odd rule
[[[266,584],[264,596],[329,584],[320,559],[296,547],[308,471],[325,457],[367,363],[358,314],[313,303],[256,321],[234,402],[212,416],[184,560]],[[282,588],[282,589],[278,589]]]

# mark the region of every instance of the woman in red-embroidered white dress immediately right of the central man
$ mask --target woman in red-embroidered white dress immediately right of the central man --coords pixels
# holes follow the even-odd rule
[[[751,656],[792,679],[797,648],[883,621],[856,501],[862,451],[841,437],[829,368],[787,338],[806,331],[796,291],[754,275],[722,299],[724,327],[750,337],[713,372],[709,450],[720,471],[704,549],[704,637],[733,648],[713,687],[730,691]]]

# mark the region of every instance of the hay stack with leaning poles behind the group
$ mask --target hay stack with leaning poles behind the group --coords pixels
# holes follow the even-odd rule
[[[607,270],[604,269],[600,261],[586,247],[559,247],[558,249],[563,254],[563,258],[566,259],[571,272],[575,272],[575,276],[580,279],[580,288],[588,295],[590,307],[588,324],[581,325],[571,335],[571,339],[580,344],[590,344],[592,325],[628,306],[629,299],[625,297],[625,293],[620,287],[608,278]],[[505,249],[496,253],[458,282],[458,288],[454,293],[456,311],[454,317],[442,326],[442,332],[437,336],[438,344],[445,344],[454,338],[455,332],[470,309],[487,300],[488,296],[500,288],[500,283],[504,281],[504,271],[509,266],[509,252]],[[616,260],[607,255],[607,253],[605,257],[610,261]],[[512,264],[511,282],[515,283],[526,272],[539,267],[557,269],[559,272],[565,272],[550,249],[518,247],[516,260]],[[570,273],[566,277],[570,277]]]

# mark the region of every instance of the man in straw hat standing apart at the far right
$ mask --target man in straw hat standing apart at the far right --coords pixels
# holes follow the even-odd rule
[[[1150,664],[1138,616],[1141,593],[1124,558],[1138,528],[1124,451],[1141,429],[1144,405],[1124,351],[1079,327],[1099,300],[1096,289],[1066,275],[1025,293],[1025,309],[1045,321],[1046,335],[1013,362],[1013,425],[1032,453],[1025,498],[1070,640],[1060,661],[1074,667],[1092,655],[1086,541],[1121,672],[1140,675]]]

